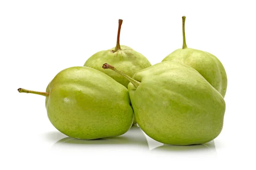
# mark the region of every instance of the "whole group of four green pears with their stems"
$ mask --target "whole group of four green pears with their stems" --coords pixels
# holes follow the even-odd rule
[[[19,88],[46,97],[52,125],[76,139],[119,136],[138,125],[164,144],[202,144],[222,130],[227,75],[214,55],[183,47],[151,65],[146,57],[119,44],[99,51],[84,63],[60,71],[46,92]]]

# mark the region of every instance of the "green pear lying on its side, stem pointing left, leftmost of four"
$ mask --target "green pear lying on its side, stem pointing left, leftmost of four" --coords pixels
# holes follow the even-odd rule
[[[49,121],[61,133],[77,139],[99,139],[127,132],[133,122],[128,89],[89,67],[59,72],[46,92],[19,88],[20,93],[46,96]]]

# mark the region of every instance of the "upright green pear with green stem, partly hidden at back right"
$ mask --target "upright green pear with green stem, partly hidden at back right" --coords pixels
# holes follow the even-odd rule
[[[187,48],[185,20],[186,17],[183,16],[183,47],[173,51],[163,61],[181,62],[195,68],[224,97],[227,91],[227,74],[224,66],[217,57],[208,52]]]

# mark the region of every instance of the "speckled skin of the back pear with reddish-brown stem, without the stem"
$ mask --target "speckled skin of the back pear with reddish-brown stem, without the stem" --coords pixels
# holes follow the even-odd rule
[[[139,52],[134,51],[132,48],[125,45],[120,46],[121,49],[116,52],[114,52],[115,48],[111,48],[110,50],[99,51],[96,54],[93,54],[93,56],[87,59],[84,66],[102,71],[127,87],[129,83],[127,79],[114,71],[102,69],[102,64],[107,62],[110,65],[115,65],[125,74],[132,77],[137,71],[150,67],[151,63],[146,57]]]

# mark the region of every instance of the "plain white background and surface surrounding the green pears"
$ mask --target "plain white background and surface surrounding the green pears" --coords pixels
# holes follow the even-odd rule
[[[82,66],[120,43],[152,64],[182,47],[208,51],[228,77],[221,134],[205,145],[161,146],[132,128],[96,141],[67,139],[49,122],[43,96],[62,69]],[[255,6],[253,1],[0,1],[0,169],[255,169]]]

